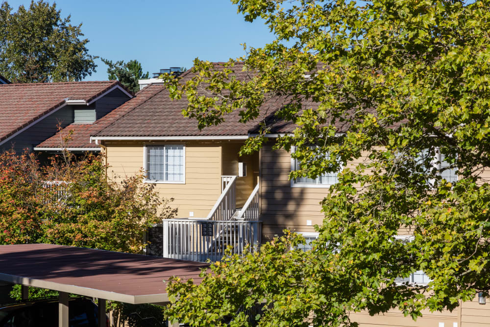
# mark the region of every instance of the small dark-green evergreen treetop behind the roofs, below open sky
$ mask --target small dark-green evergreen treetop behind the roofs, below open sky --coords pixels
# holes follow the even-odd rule
[[[148,72],[143,74],[141,63],[138,60],[130,60],[127,63],[120,60],[113,63],[112,60],[102,59],[102,62],[109,66],[107,68],[107,74],[110,80],[119,80],[121,84],[134,93],[140,89],[138,79],[148,78]]]

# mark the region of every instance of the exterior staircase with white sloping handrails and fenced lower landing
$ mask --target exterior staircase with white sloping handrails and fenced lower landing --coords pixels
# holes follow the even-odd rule
[[[164,219],[163,256],[174,259],[221,260],[231,246],[232,254],[248,248],[256,251],[261,244],[257,185],[243,208],[235,205],[237,176],[221,176],[221,196],[204,220]]]

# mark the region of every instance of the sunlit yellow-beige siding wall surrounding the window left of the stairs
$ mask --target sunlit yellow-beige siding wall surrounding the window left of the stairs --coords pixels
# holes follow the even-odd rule
[[[212,142],[104,142],[109,178],[143,168],[144,144],[185,143],[185,184],[155,184],[162,199],[174,198],[177,218],[206,217],[221,194],[221,144]]]

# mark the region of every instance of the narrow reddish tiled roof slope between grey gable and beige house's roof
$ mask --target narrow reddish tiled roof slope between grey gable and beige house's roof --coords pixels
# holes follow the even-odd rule
[[[163,85],[149,85],[145,87],[143,90],[136,93],[134,98],[125,102],[123,105],[118,108],[112,110],[104,117],[98,119],[94,124],[71,124],[66,126],[61,132],[63,135],[67,135],[70,130],[73,131],[71,135],[71,139],[68,144],[66,144],[67,148],[96,148],[98,145],[95,143],[90,143],[90,136],[98,133],[100,130],[109,126],[114,121],[120,119],[125,114],[133,110],[138,105],[144,103],[155,94],[159,93],[165,88]],[[36,148],[60,148],[60,133],[56,133],[49,139],[43,141]]]

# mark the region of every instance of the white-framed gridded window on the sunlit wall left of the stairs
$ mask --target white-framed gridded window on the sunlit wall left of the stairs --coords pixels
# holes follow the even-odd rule
[[[146,146],[146,181],[157,183],[184,183],[184,158],[184,145],[173,144]]]

